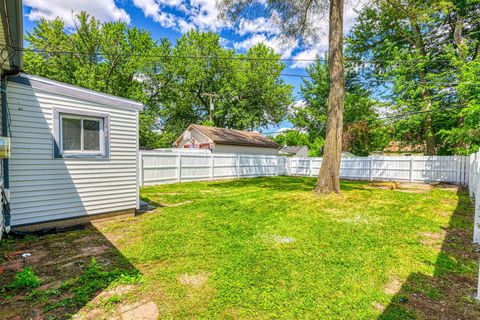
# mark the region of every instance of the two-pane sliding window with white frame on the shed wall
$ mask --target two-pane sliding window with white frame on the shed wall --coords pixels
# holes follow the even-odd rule
[[[55,157],[107,157],[108,118],[59,113]]]

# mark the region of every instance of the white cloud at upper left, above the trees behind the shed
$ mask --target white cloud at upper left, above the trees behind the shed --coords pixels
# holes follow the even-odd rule
[[[86,11],[100,21],[120,20],[130,23],[128,13],[117,7],[114,0],[24,0],[23,3],[31,8],[27,18],[32,21],[59,17],[67,27],[73,27],[75,15]]]

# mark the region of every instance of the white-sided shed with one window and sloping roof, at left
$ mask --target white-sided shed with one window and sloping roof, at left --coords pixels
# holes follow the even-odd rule
[[[21,7],[21,1],[12,2]],[[1,18],[14,15],[21,19],[21,10],[2,12]],[[20,66],[14,71],[2,91],[2,107],[8,104],[9,110],[3,114],[10,118],[2,119],[3,136],[11,136],[11,157],[3,168],[10,187],[7,227],[63,227],[97,215],[133,213],[139,206],[143,105],[19,74]]]

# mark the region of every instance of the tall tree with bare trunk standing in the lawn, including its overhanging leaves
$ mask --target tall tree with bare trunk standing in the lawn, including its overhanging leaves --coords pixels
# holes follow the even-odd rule
[[[316,41],[321,33],[318,21],[329,13],[328,56],[330,91],[328,96],[325,154],[315,192],[340,193],[340,158],[342,149],[345,77],[343,66],[343,9],[344,0],[221,0],[217,1],[222,15],[235,22],[242,17],[256,18],[259,12],[270,14],[279,24],[284,39],[300,43]],[[258,9],[258,6],[262,8]]]

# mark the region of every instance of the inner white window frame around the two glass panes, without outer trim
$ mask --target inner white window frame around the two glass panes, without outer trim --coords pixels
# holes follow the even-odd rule
[[[80,120],[80,150],[63,150],[63,119],[75,119]],[[84,134],[83,134],[83,121],[92,120],[99,122],[99,146],[100,150],[85,150],[84,149]],[[80,116],[68,113],[60,114],[60,152],[62,154],[80,154],[80,155],[94,155],[94,156],[103,156],[105,155],[105,130],[104,130],[104,119],[101,117],[89,117],[89,116]]]

